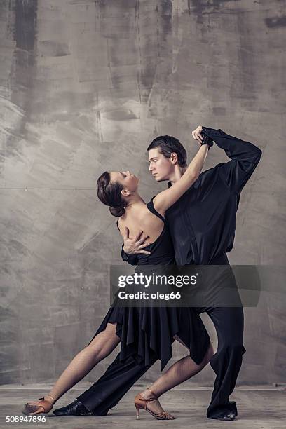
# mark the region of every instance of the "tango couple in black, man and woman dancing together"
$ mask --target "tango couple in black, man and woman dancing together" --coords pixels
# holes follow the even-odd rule
[[[156,182],[168,180],[168,189],[147,204],[138,193],[139,179],[129,171],[104,172],[97,180],[98,197],[119,217],[117,226],[124,240],[121,255],[129,264],[229,265],[226,253],[233,247],[240,192],[256,168],[261,150],[220,129],[198,126],[192,135],[199,149],[189,166],[186,150],[174,137],[157,137],[147,148],[149,171]],[[200,173],[213,142],[231,160]],[[50,393],[38,402],[25,404],[25,414],[48,413],[121,342],[120,352],[104,375],[74,402],[54,411],[57,416],[106,415],[156,360],[161,360],[161,369],[165,367],[172,356],[173,341],[179,341],[188,355],[136,395],[137,418],[140,409],[158,419],[174,418],[163,410],[158,398],[200,372],[208,362],[216,379],[207,417],[236,418],[236,403],[229,396],[245,353],[242,306],[131,308],[116,304]],[[216,353],[200,319],[203,312],[217,331]]]

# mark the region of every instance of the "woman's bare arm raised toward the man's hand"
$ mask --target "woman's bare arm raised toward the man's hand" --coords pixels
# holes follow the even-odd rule
[[[193,158],[184,175],[175,182],[169,189],[165,189],[156,195],[153,200],[154,207],[157,212],[165,214],[165,211],[173,205],[179,198],[196,182],[207,157],[208,144],[202,144],[198,153]]]

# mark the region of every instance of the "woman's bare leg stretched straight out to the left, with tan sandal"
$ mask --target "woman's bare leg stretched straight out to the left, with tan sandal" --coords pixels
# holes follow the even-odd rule
[[[44,397],[44,401],[50,402],[50,409],[53,408],[53,404],[64,395],[67,390],[83,379],[100,360],[107,357],[120,341],[120,338],[116,335],[116,324],[108,323],[106,329],[100,332],[100,334],[97,334],[93,341],[71,360],[67,368],[64,369],[64,372],[62,372],[55,382],[52,390]],[[28,405],[36,405],[37,403],[38,402],[29,402]],[[33,413],[31,412],[31,414],[39,414],[41,412],[43,412],[43,407],[39,406],[38,409]]]

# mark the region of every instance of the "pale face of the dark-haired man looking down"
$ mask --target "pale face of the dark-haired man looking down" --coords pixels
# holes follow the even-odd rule
[[[149,150],[148,161],[150,163],[149,171],[156,182],[170,179],[170,175],[174,172],[174,164],[171,162],[171,158],[165,158],[161,154],[160,148]]]

